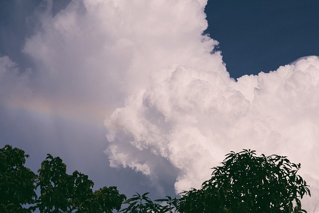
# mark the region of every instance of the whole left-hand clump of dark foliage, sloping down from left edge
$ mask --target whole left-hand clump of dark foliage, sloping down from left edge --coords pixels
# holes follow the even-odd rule
[[[116,187],[93,192],[87,175],[66,174],[62,159],[50,154],[36,175],[23,166],[27,157],[9,145],[0,149],[0,213],[112,213],[126,200]]]

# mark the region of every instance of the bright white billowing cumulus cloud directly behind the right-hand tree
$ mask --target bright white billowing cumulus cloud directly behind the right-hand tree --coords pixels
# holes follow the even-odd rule
[[[107,153],[112,166],[150,176],[161,173],[153,158],[167,159],[179,171],[177,193],[200,187],[224,154],[241,149],[286,155],[318,180],[318,91],[317,56],[237,82],[216,71],[167,68],[106,121]]]

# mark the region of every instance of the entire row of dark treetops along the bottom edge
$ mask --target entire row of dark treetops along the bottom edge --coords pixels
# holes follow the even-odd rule
[[[9,145],[0,149],[1,213],[306,213],[301,199],[310,196],[297,175],[300,164],[251,150],[227,154],[200,189],[155,201],[149,193],[127,199],[114,186],[93,192],[87,175],[67,174],[62,159],[50,154],[35,174],[24,166],[28,157]]]

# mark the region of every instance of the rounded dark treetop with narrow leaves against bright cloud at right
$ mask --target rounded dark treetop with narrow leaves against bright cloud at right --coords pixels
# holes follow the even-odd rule
[[[287,157],[257,157],[244,150],[226,155],[199,190],[181,193],[180,213],[301,213],[309,186],[297,175],[300,164]]]

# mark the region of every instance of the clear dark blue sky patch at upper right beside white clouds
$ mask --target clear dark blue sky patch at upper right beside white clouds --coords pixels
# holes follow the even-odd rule
[[[205,11],[233,78],[319,55],[318,0],[208,0]]]

